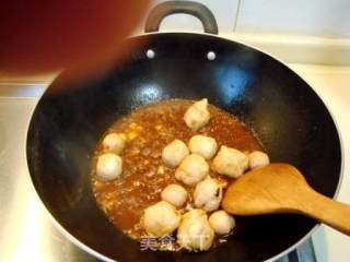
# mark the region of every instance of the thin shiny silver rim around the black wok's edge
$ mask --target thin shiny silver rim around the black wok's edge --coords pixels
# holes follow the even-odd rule
[[[337,131],[337,134],[338,134],[338,139],[339,139],[339,146],[340,146],[340,171],[339,171],[339,179],[338,179],[338,183],[337,183],[337,188],[336,188],[336,191],[332,195],[331,199],[334,200],[337,200],[337,198],[339,196],[339,191],[340,191],[340,188],[342,186],[342,182],[343,182],[343,167],[345,167],[345,147],[343,147],[343,138],[342,138],[342,134],[340,132],[340,129],[339,129],[339,124],[338,122],[335,120],[335,117],[334,117],[334,114],[331,110],[329,110],[329,106],[328,104],[323,99],[323,96],[320,96],[316,90],[314,88],[314,86],[308,82],[306,81],[303,76],[301,76],[298,72],[295,72],[290,66],[288,66],[285,62],[283,62],[282,60],[280,60],[279,58],[275,57],[273,55],[267,52],[267,51],[264,51],[262,49],[260,49],[259,47],[256,47],[254,45],[250,45],[250,44],[246,44],[246,43],[243,43],[242,40],[232,40],[232,39],[229,39],[226,37],[223,37],[223,36],[220,36],[220,35],[213,35],[213,34],[208,34],[208,33],[198,33],[198,32],[182,32],[182,31],[175,31],[175,32],[151,32],[151,33],[143,33],[143,34],[138,34],[138,35],[131,35],[130,37],[127,37],[125,38],[125,40],[132,40],[132,39],[136,39],[138,37],[147,37],[147,36],[158,36],[158,35],[183,35],[183,34],[186,34],[186,35],[198,35],[198,36],[209,36],[209,37],[212,37],[212,38],[218,38],[218,39],[221,39],[221,40],[225,40],[225,41],[231,41],[231,43],[235,43],[235,44],[240,44],[244,47],[248,47],[253,50],[256,50],[256,51],[259,51],[268,57],[270,57],[272,60],[276,60],[277,62],[281,63],[282,66],[284,66],[285,68],[288,68],[291,72],[293,72],[295,75],[298,75],[300,79],[302,79],[307,85],[308,87],[315,93],[315,95],[318,97],[318,99],[323,103],[323,105],[325,106],[326,110],[328,111],[334,124],[335,124],[335,128],[336,128],[336,131]],[[39,102],[43,99],[43,96],[47,93],[47,90],[50,87],[50,85],[55,82],[55,80],[61,74],[63,73],[65,71],[60,71],[56,76],[55,79],[48,84],[48,86],[45,88],[45,91],[43,92],[43,94],[40,96],[38,96],[38,100],[37,100],[37,104],[35,105],[35,107],[33,108],[32,110],[32,116],[31,116],[31,119],[28,120],[28,123],[27,123],[27,130],[26,130],[26,144],[25,144],[25,157],[26,157],[26,167],[27,167],[27,176],[30,176],[30,180],[31,180],[31,187],[32,189],[34,190],[35,192],[35,195],[37,196],[37,200],[39,200],[40,204],[45,207],[45,212],[48,214],[49,216],[49,219],[52,222],[52,224],[56,226],[56,228],[58,228],[58,230],[70,241],[72,242],[75,247],[80,248],[81,250],[85,251],[86,253],[97,258],[97,259],[101,259],[105,262],[118,262],[117,260],[114,260],[114,259],[110,259],[100,252],[97,252],[96,250],[90,248],[88,245],[83,243],[82,241],[80,241],[79,239],[77,239],[73,235],[71,235],[56,218],[55,216],[52,215],[52,213],[48,210],[48,207],[45,205],[44,201],[42,200],[38,191],[36,190],[35,188],[35,184],[34,184],[34,181],[32,179],[32,175],[31,175],[31,169],[30,169],[30,165],[28,165],[28,152],[27,152],[27,146],[28,146],[28,134],[30,134],[30,128],[31,128],[31,124],[33,122],[33,117],[34,117],[34,112],[35,110],[37,109],[37,106],[39,104]],[[316,229],[318,229],[319,227],[322,226],[322,223],[320,222],[316,222],[316,225],[313,226],[308,233],[306,233],[301,239],[299,239],[296,242],[294,242],[293,245],[291,245],[289,248],[284,249],[283,251],[279,252],[278,254],[265,260],[265,261],[276,261],[280,258],[282,258],[283,255],[290,253],[292,250],[296,249],[301,243],[303,243],[306,239],[308,239],[315,231]]]

